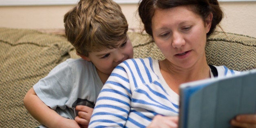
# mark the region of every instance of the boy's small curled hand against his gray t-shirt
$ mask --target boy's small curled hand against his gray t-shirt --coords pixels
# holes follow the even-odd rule
[[[78,110],[78,116],[75,117],[75,121],[80,124],[81,127],[87,128],[90,122],[90,117],[93,114],[93,108],[88,106],[78,105],[75,107]]]

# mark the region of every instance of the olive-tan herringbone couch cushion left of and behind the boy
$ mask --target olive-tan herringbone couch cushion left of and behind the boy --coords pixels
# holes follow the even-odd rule
[[[33,128],[23,105],[26,92],[70,57],[73,47],[61,36],[26,29],[0,28],[0,128]]]

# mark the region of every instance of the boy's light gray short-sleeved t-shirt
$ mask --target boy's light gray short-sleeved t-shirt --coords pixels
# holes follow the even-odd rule
[[[62,117],[74,119],[75,106],[94,108],[102,89],[96,68],[84,59],[67,59],[57,65],[33,88],[38,97]]]

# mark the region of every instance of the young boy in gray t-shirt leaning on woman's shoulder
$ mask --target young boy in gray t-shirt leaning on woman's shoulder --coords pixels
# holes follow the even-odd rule
[[[62,62],[26,93],[24,105],[43,124],[40,127],[88,124],[110,73],[133,57],[126,18],[112,0],[80,0],[64,15],[64,26],[68,41],[81,58]]]

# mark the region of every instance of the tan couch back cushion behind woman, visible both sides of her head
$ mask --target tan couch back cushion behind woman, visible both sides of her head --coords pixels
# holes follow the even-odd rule
[[[134,47],[135,58],[152,57],[164,59],[156,44],[149,40],[149,35],[129,32]],[[216,32],[207,39],[205,46],[207,63],[225,65],[236,71],[256,68],[256,38],[234,33]]]

